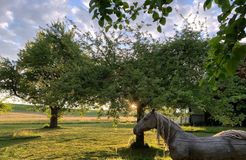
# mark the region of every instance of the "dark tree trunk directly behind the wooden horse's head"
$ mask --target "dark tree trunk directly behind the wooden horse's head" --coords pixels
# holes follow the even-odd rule
[[[137,105],[137,122],[144,117],[144,106],[142,104]],[[144,147],[144,132],[136,135],[136,147]]]

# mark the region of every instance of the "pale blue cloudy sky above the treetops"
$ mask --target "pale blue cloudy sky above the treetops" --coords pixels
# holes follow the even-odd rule
[[[155,38],[170,37],[174,34],[174,25],[178,29],[182,26],[183,20],[178,13],[193,21],[195,13],[199,11],[196,23],[206,22],[208,33],[214,35],[218,31],[217,15],[220,10],[212,7],[204,11],[203,3],[204,0],[174,0],[173,12],[168,16],[162,34],[156,31],[155,25],[146,26],[143,30]],[[57,19],[63,20],[64,17],[72,19],[81,31],[97,31],[99,26],[96,20],[91,19],[88,7],[89,0],[0,0],[0,56],[16,60],[19,50],[36,36],[40,27]],[[136,22],[141,21],[152,23],[152,18],[140,15]]]

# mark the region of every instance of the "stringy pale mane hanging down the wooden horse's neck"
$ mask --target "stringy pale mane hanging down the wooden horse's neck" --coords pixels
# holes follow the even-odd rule
[[[163,138],[166,138],[165,141],[166,141],[166,143],[168,143],[171,126],[174,126],[177,130],[182,130],[181,127],[177,123],[175,123],[174,121],[165,117],[164,115],[161,115],[160,113],[155,112],[155,116],[156,116],[156,120],[157,120],[157,139],[158,139],[158,142],[160,140],[160,136],[162,136]],[[165,129],[164,122],[165,121],[168,121],[168,126],[166,126],[166,127],[168,127],[167,128],[167,132],[168,132],[167,137],[165,137],[165,132],[164,132],[164,129]]]

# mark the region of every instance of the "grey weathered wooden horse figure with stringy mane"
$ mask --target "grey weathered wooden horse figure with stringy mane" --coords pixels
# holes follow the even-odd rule
[[[169,147],[173,160],[246,160],[246,132],[228,130],[211,137],[197,137],[152,110],[133,129],[139,134],[157,129]]]

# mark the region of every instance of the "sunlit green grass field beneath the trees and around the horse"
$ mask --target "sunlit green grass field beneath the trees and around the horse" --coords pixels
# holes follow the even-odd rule
[[[16,114],[12,120],[8,115]],[[23,115],[24,114],[24,115]],[[36,113],[0,115],[0,159],[85,159],[85,160],[168,160],[163,158],[163,145],[157,145],[155,131],[145,134],[149,149],[132,150],[132,122],[113,127],[107,119],[69,119],[60,121],[60,129],[44,129],[48,119],[40,121],[30,116]],[[29,115],[28,121],[25,121]],[[39,115],[39,114],[38,114]],[[43,115],[44,116],[44,115]],[[23,120],[24,117],[24,120]],[[88,118],[88,117],[87,117]],[[229,129],[223,127],[183,127],[198,136],[209,136]],[[242,129],[242,128],[241,128]]]

